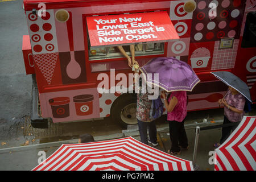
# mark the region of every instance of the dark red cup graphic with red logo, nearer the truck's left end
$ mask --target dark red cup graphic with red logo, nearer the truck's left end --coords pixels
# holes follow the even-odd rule
[[[69,97],[55,97],[49,100],[53,118],[69,117]]]

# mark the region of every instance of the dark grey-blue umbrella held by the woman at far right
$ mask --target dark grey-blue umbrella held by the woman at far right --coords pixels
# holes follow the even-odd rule
[[[231,86],[240,92],[247,100],[251,102],[251,95],[249,87],[244,81],[239,77],[230,72],[220,71],[220,72],[211,72],[216,78],[224,82],[226,85]]]

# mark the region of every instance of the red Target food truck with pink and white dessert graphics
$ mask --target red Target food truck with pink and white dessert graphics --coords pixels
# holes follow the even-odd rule
[[[122,80],[117,75],[133,73],[117,49],[120,45],[130,56],[133,44],[141,66],[160,56],[191,65],[201,82],[188,92],[188,111],[219,107],[217,101],[228,88],[210,74],[214,71],[240,77],[255,102],[255,0],[23,3],[29,35],[23,36],[22,50],[26,73],[33,78],[33,127],[47,127],[48,118],[112,117],[123,126],[136,124],[136,94],[117,92]],[[103,76],[109,84],[102,86]]]

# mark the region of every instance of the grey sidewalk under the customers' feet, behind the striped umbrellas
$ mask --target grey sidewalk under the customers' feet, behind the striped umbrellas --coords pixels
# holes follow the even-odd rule
[[[191,160],[193,159],[193,148],[195,144],[195,127],[200,126],[212,126],[218,125],[222,121],[215,121],[214,123],[195,123],[185,125],[187,132],[187,137],[189,139],[189,150],[182,151],[181,155],[178,157]],[[213,143],[217,142],[221,136],[221,129],[212,129],[201,131],[199,135],[199,145],[197,150],[196,164],[199,166],[200,170],[214,170],[214,165],[210,165],[208,160],[210,158],[209,152],[214,150]],[[161,151],[167,152],[170,149],[170,135],[167,127],[162,127],[158,129],[158,148]],[[136,129],[123,130],[122,133],[117,133],[113,135],[105,135],[94,137],[94,140],[108,140],[122,137],[134,137],[140,140],[139,132]],[[60,142],[51,142],[43,144],[35,144],[31,146],[20,146],[12,148],[0,149],[0,170],[31,170],[38,165],[38,160],[40,156],[39,151],[46,152],[46,158],[48,158],[54,151],[61,146],[61,144],[77,143],[77,139],[65,140]]]

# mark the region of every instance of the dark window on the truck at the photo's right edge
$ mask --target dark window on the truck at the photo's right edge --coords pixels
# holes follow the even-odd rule
[[[256,47],[256,11],[247,14],[242,47]]]

